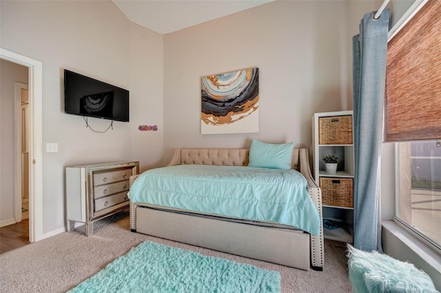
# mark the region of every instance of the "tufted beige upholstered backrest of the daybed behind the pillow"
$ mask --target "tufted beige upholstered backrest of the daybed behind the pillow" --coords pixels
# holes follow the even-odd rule
[[[299,170],[299,151],[294,149],[291,167]],[[247,166],[249,149],[175,149],[168,166],[180,164]]]

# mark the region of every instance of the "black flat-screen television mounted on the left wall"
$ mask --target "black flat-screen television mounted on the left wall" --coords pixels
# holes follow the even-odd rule
[[[64,112],[129,122],[129,91],[65,69]]]

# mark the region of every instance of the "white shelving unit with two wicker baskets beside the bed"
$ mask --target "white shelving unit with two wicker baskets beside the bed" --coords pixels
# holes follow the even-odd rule
[[[315,113],[312,117],[314,179],[322,191],[323,235],[353,242],[353,111]],[[325,155],[339,158],[327,173]]]

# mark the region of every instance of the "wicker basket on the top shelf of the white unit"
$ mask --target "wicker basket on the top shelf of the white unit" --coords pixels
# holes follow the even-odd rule
[[[318,118],[319,144],[352,144],[352,116]]]

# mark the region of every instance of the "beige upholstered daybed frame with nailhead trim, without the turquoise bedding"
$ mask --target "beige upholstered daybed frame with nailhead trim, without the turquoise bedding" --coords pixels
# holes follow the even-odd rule
[[[168,166],[209,164],[247,166],[249,149],[176,149]],[[308,192],[322,221],[321,191],[312,179],[307,149],[294,149],[292,167],[308,182]],[[130,185],[138,175],[130,177]],[[240,223],[196,213],[174,213],[154,206],[130,203],[130,228],[173,241],[243,257],[269,261],[302,270],[322,270],[323,228],[313,236],[301,230]]]

